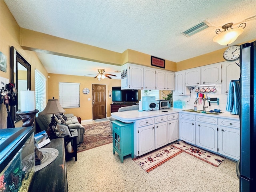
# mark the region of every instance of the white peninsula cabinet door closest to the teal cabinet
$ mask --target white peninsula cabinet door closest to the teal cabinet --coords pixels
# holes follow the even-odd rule
[[[138,128],[138,152],[134,154],[140,156],[153,150],[155,150],[154,124]]]

